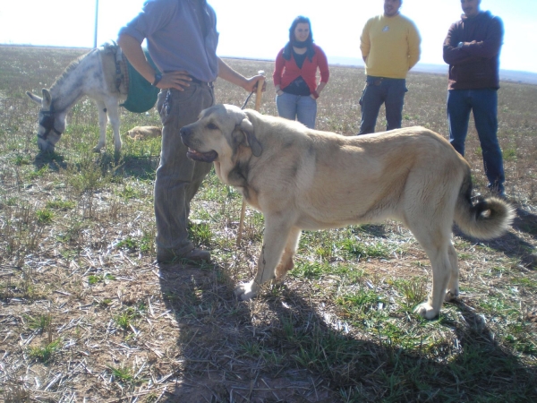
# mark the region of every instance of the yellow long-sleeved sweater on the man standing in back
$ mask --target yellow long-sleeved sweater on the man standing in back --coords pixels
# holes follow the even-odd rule
[[[375,77],[406,78],[406,73],[420,60],[421,41],[413,21],[401,14],[371,18],[360,37],[365,73]]]

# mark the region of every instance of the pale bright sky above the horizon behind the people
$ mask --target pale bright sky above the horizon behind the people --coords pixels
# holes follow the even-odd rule
[[[294,17],[311,20],[315,43],[328,56],[361,60],[360,34],[383,0],[208,0],[217,12],[218,56],[271,59],[286,44]],[[99,0],[97,44],[140,12],[144,0]],[[2,0],[0,44],[93,47],[96,0]],[[482,0],[504,21],[500,68],[537,73],[537,0]],[[423,64],[444,64],[442,43],[460,19],[460,0],[404,0],[401,13],[422,36]]]

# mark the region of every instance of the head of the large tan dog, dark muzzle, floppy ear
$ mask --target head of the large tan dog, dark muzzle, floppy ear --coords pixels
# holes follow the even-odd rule
[[[262,152],[253,124],[240,107],[215,105],[201,111],[197,122],[181,129],[181,140],[188,147],[187,157],[213,162],[233,159],[240,146],[255,157]]]

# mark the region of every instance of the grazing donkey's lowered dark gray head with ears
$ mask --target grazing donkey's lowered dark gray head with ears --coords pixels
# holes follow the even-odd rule
[[[43,98],[26,91],[32,101],[37,103],[39,110],[38,148],[41,151],[52,152],[55,143],[60,140],[65,130],[65,112],[56,111],[50,92],[43,89]]]

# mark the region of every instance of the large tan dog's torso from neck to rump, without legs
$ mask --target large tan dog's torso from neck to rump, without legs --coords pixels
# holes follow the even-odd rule
[[[249,194],[257,195],[251,201],[257,199],[253,204],[263,213],[285,204],[298,207],[296,224],[303,229],[388,217],[405,222],[404,211],[413,205],[432,198],[438,205],[446,193],[454,203],[469,172],[444,138],[422,127],[343,136],[246,113],[268,150],[249,164]]]

